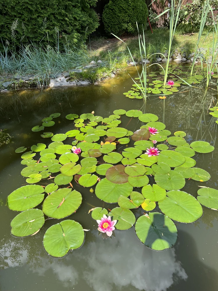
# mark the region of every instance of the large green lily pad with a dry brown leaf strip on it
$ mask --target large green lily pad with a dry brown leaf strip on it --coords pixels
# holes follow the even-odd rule
[[[81,194],[70,188],[61,188],[48,195],[43,204],[42,211],[48,217],[64,218],[74,213],[82,203]]]

